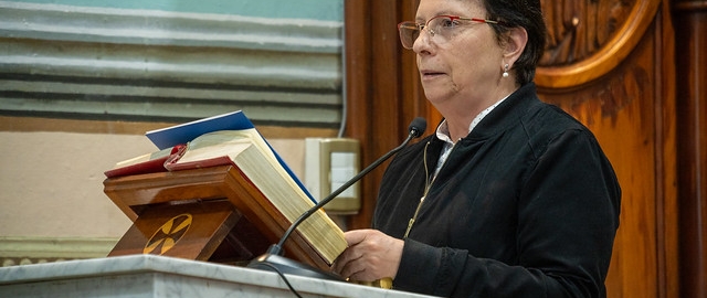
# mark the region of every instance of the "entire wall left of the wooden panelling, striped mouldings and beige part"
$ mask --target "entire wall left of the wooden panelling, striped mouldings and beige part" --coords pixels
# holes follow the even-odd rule
[[[341,113],[336,109],[341,108],[342,100],[341,36],[338,32],[342,1],[77,0],[0,1],[0,6],[20,8],[24,13],[0,18],[3,19],[0,21],[0,266],[105,256],[130,221],[103,193],[103,171],[117,161],[156,150],[143,136],[147,130],[234,109],[244,109],[246,114],[255,110],[252,118],[261,132],[300,177],[304,138],[337,135]],[[110,13],[105,19],[94,18],[89,28],[85,28],[85,22],[71,24],[76,20],[68,20],[67,14],[62,14],[93,18],[104,12]],[[56,28],[35,22],[48,15],[59,15],[55,17]],[[167,21],[150,23],[149,15],[167,15],[167,19],[161,19]],[[144,21],[131,22],[127,38],[112,35],[117,31],[110,30],[122,29],[112,24],[135,18]],[[170,22],[177,19],[182,21]],[[273,43],[244,41],[244,35],[199,40],[199,36],[213,36],[209,26],[198,28],[201,24],[225,23],[229,28],[247,31],[256,30],[258,25],[253,24],[263,20],[277,23],[270,31],[274,32],[274,39],[284,40],[278,36],[294,34],[289,39],[292,42],[279,43],[275,51],[258,51],[258,47],[272,46]],[[243,29],[244,22],[251,26]],[[221,30],[228,31],[229,28]],[[83,30],[91,29],[95,31],[84,34]],[[170,35],[175,29],[193,30],[197,34],[187,40],[172,34],[170,44],[159,44],[160,39],[154,38]],[[54,30],[59,33],[52,33]],[[151,32],[149,36],[152,38],[140,35],[144,33],[141,30]],[[327,45],[312,44],[313,39]],[[181,43],[173,44],[173,41]],[[28,46],[33,50],[24,51]],[[217,49],[223,54],[210,55],[204,49]],[[189,57],[183,55],[184,51],[204,54]],[[244,54],[246,52],[249,55]],[[296,57],[284,58],[284,55]],[[130,58],[161,58],[161,65],[177,70],[169,72],[169,78],[160,76],[163,72],[149,67],[131,71],[126,67],[126,61]],[[107,61],[116,63],[103,67],[108,65]],[[81,66],[73,67],[74,62]],[[250,70],[254,74],[257,70],[273,70],[273,73],[252,78],[247,74],[226,71],[214,78],[214,73],[219,73],[214,72],[215,66],[238,66],[239,63],[251,63]],[[198,64],[207,66],[199,70],[194,66]],[[73,73],[67,74],[70,72]],[[238,82],[229,81],[235,79],[233,77],[238,77]],[[138,82],[138,78],[159,84],[123,84]],[[202,78],[211,81],[193,83],[193,79]],[[184,84],[190,79],[192,85]],[[253,85],[258,87],[250,87],[246,94],[240,92],[241,87],[247,89]],[[211,102],[200,108],[179,99],[184,88],[202,96],[199,103]],[[145,114],[156,104],[144,100],[156,97],[159,97],[158,104],[181,103],[181,106],[171,108],[181,116]],[[228,102],[223,97],[239,99]],[[257,106],[258,98],[276,98],[286,103]],[[299,104],[297,100],[303,98],[313,102]],[[317,113],[316,107],[326,106],[333,110],[326,120],[329,124],[313,126],[283,121],[289,124],[284,125],[277,121],[278,117],[297,117],[293,110],[298,106],[308,107],[303,113],[308,113],[307,109]]]

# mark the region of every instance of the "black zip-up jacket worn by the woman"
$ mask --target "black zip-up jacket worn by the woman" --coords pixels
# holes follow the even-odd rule
[[[443,142],[386,170],[373,227],[402,238]],[[431,175],[431,173],[430,173]],[[621,190],[594,136],[527,84],[457,141],[405,240],[397,289],[453,297],[604,297]]]

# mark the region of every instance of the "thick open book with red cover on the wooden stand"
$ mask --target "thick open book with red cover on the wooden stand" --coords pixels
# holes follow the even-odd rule
[[[109,172],[115,174],[113,177],[144,173],[147,164],[155,168],[161,167],[161,170],[157,171],[181,171],[232,164],[247,178],[247,181],[240,183],[251,183],[249,188],[254,185],[260,192],[255,195],[243,193],[241,200],[267,200],[287,222],[292,223],[313,207],[315,202],[260,132],[252,125],[250,126],[250,128],[205,132],[183,145],[173,143],[179,141],[167,142],[160,147],[163,148],[162,150],[118,162],[113,170],[106,172],[106,175],[112,178]],[[144,171],[135,171],[140,167]],[[328,264],[331,264],[347,247],[344,232],[323,210],[303,222],[297,227],[297,232]]]

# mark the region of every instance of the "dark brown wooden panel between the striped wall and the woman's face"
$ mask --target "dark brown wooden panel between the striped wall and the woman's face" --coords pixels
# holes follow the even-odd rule
[[[345,1],[346,136],[360,140],[363,167],[398,147],[410,121],[426,113],[420,88],[412,83],[414,60],[403,53],[397,28],[401,12],[414,15],[415,9],[411,0]],[[361,211],[350,217],[350,228],[370,226],[386,164],[362,179]]]

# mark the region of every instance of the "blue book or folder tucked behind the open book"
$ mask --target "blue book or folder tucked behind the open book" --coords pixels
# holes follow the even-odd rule
[[[181,125],[176,125],[167,128],[155,129],[145,132],[157,148],[160,150],[172,148],[178,145],[184,145],[196,139],[197,137],[219,131],[219,130],[243,130],[243,129],[254,129],[255,126],[251,120],[245,116],[242,110],[231,111],[222,115],[217,115],[209,118],[203,118],[199,120],[194,120],[191,123],[186,123]],[[262,136],[261,136],[262,137]],[[263,138],[265,140],[265,138]],[[265,140],[267,142],[267,140]],[[315,204],[317,201],[312,196],[307,188],[305,188],[304,183],[299,181],[297,175],[289,169],[287,163],[277,155],[277,152],[273,149],[270,143],[267,143],[270,149],[275,155],[277,162],[285,169],[285,171],[292,177],[292,179],[299,185],[299,188],[309,196],[309,200]]]

